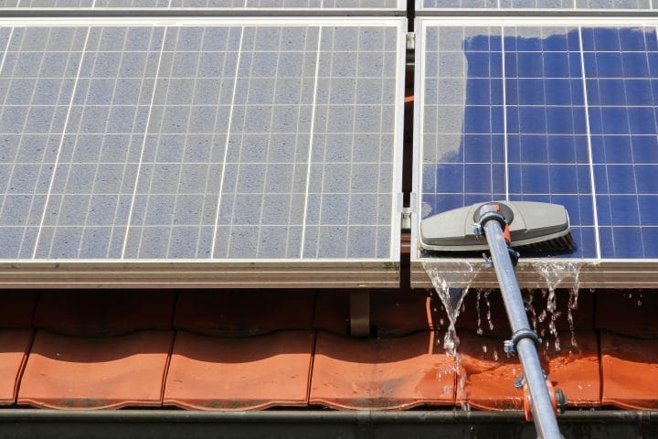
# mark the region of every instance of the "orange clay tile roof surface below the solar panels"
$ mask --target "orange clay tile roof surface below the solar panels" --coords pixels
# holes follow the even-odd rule
[[[544,316],[547,297],[532,293],[544,367],[571,406],[658,407],[653,295],[581,291],[572,334],[569,292],[558,290],[556,312]],[[521,369],[504,355],[495,291],[467,295],[457,363],[443,348],[447,318],[425,291],[372,292],[379,330],[369,338],[347,334],[349,300],[340,291],[5,292],[0,300],[3,312],[14,311],[0,329],[5,406],[504,410],[522,403],[514,387]]]

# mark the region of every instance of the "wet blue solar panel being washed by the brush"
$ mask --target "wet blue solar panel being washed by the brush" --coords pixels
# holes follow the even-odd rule
[[[563,204],[578,258],[658,257],[651,28],[432,27],[423,218],[493,199]]]

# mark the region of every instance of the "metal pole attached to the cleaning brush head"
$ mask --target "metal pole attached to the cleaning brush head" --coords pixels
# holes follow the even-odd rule
[[[514,266],[509,257],[501,224],[497,220],[490,219],[483,224],[483,230],[489,243],[493,268],[503,293],[505,310],[512,332],[516,333],[522,329],[530,331],[530,324],[527,316],[525,316],[525,305],[516,282]],[[562,435],[557,427],[553,403],[548,394],[546,379],[539,363],[535,341],[531,338],[521,338],[516,343],[515,348],[521,360],[525,381],[532,398],[532,413],[537,434],[543,439],[560,439]]]

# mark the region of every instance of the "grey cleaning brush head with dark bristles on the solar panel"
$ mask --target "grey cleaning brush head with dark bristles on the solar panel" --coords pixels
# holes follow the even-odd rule
[[[534,201],[494,201],[448,210],[420,222],[420,247],[434,252],[479,252],[487,241],[476,227],[484,205],[500,208],[512,247],[524,252],[568,252],[575,248],[564,206]]]

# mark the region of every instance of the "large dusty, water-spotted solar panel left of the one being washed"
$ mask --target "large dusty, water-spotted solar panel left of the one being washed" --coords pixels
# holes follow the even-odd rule
[[[398,260],[403,25],[0,27],[0,258]]]

